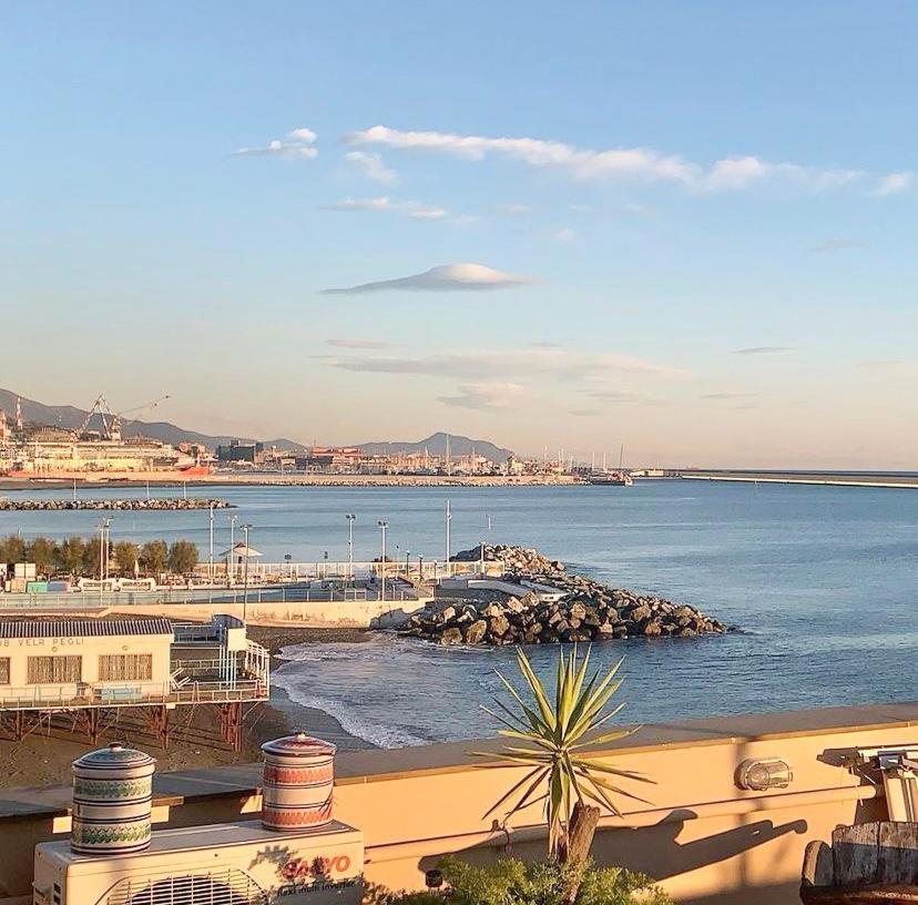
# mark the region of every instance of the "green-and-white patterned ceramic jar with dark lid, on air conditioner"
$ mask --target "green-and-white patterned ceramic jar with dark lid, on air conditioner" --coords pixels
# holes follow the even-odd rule
[[[149,754],[120,744],[73,762],[74,852],[124,854],[150,845],[155,766]]]

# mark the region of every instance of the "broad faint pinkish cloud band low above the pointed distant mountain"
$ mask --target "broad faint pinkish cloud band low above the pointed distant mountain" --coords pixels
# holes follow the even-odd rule
[[[666,364],[646,362],[630,355],[569,352],[555,348],[442,352],[422,356],[354,356],[334,363],[345,370],[375,374],[427,374],[439,377],[480,380],[488,375],[502,380],[551,378],[565,382],[601,383],[610,374],[641,377],[681,378],[685,372]],[[600,394],[603,387],[594,386]]]

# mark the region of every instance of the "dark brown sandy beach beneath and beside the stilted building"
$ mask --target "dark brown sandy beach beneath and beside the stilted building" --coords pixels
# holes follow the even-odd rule
[[[354,642],[366,640],[368,633],[354,629],[275,629],[249,628],[249,637],[266,647],[272,663],[277,664],[276,654],[288,644]],[[263,742],[303,729],[333,742],[341,751],[357,751],[373,748],[371,744],[345,732],[337,720],[320,710],[304,708],[293,702],[279,688],[273,688],[271,701],[254,704],[245,721],[243,750],[235,752],[214,741],[217,728],[214,714],[207,708],[183,708],[173,716],[173,738],[169,749],[163,751],[159,741],[143,724],[141,715],[125,709],[116,724],[102,733],[98,743],[85,736],[72,734],[61,720],[54,728],[42,725],[21,742],[9,738],[0,739],[0,789],[22,786],[60,785],[70,780],[70,764],[88,751],[101,748],[112,741],[126,742],[133,748],[146,751],[157,761],[157,770],[169,772],[192,767],[222,766],[225,764],[252,763],[261,760]]]

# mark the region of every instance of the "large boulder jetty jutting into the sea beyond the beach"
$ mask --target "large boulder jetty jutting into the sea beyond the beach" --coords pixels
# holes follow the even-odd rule
[[[486,562],[502,565],[504,581],[538,587],[519,596],[476,589],[475,599],[439,599],[412,616],[401,632],[448,645],[692,638],[728,631],[694,607],[571,574],[538,550],[486,545],[483,552]],[[481,548],[453,559],[480,561]]]

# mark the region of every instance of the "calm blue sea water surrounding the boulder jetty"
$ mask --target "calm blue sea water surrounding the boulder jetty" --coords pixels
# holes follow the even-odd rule
[[[389,522],[392,553],[442,555],[443,489],[220,494],[238,505],[232,511],[239,522],[255,526],[252,545],[266,559],[289,553],[312,561],[326,551],[344,559],[345,512],[357,513],[358,559],[377,555],[378,519]],[[742,629],[594,648],[598,661],[624,655],[620,694],[631,721],[916,698],[918,490],[665,480],[460,489],[449,497],[453,550],[482,538],[536,546],[573,570],[692,603]],[[0,512],[0,533],[89,533],[98,520],[92,512]],[[228,546],[226,511],[217,512],[216,526],[220,552]],[[112,536],[188,538],[206,553],[207,513],[120,512]],[[489,734],[478,704],[497,691],[494,668],[514,672],[507,650],[439,649],[388,635],[285,654],[276,681],[294,700],[381,745]],[[557,649],[536,648],[532,655],[548,669]]]

